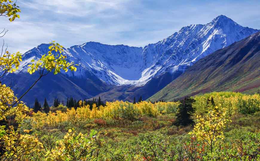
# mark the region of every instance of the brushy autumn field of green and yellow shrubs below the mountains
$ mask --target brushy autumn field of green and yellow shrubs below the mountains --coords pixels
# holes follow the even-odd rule
[[[36,143],[19,159],[260,160],[260,95],[213,92],[193,98],[195,124],[189,126],[175,126],[181,102],[31,111],[19,116],[17,127]]]

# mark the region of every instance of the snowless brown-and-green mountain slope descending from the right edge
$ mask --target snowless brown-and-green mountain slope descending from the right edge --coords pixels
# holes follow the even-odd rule
[[[150,97],[173,100],[212,91],[255,93],[260,89],[260,32],[220,49]]]

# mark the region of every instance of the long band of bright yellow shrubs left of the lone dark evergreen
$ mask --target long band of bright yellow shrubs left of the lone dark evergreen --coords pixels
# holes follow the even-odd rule
[[[65,121],[77,123],[89,119],[137,119],[138,116],[147,115],[156,117],[158,114],[176,113],[180,102],[151,102],[129,103],[123,101],[106,102],[106,106],[93,104],[92,110],[89,105],[82,105],[75,110],[73,107],[66,112],[56,111],[45,114],[38,111],[33,113],[33,126],[35,129],[57,127]]]

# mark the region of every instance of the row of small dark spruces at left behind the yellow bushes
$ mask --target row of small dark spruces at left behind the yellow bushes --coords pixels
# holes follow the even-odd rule
[[[63,105],[63,106],[66,106],[67,108],[70,108],[70,109],[72,107],[77,109],[79,107],[80,101],[82,102],[83,106],[89,105],[90,110],[92,110],[94,104],[97,106],[98,109],[99,109],[100,106],[105,106],[105,103],[100,99],[100,97],[98,97],[98,99],[93,98],[93,100],[87,100],[87,99],[76,100],[73,97],[68,97],[66,104],[63,102],[63,100],[62,100],[62,102],[60,102],[60,100],[55,98],[54,103],[53,103],[53,107],[58,107],[59,105]],[[44,99],[43,106],[41,105],[41,103],[36,98],[35,101],[34,101],[33,111],[35,113],[38,112],[38,111],[43,111],[45,113],[48,113],[50,111],[50,106],[48,105],[46,98]]]

